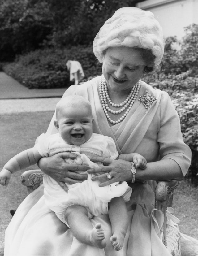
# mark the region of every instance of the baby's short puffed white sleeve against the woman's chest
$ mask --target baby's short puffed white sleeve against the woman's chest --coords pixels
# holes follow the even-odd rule
[[[104,136],[104,151],[102,156],[108,157],[110,159],[117,159],[118,158],[118,151],[116,149],[116,145],[114,140],[111,137]]]

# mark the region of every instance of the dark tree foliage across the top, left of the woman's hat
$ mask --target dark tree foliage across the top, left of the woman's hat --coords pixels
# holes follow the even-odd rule
[[[0,60],[41,48],[89,45],[115,10],[134,0],[1,0]]]

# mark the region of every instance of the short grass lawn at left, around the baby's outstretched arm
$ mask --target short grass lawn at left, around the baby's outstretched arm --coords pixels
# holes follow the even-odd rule
[[[0,115],[0,169],[15,154],[34,145],[45,132],[54,111]],[[26,170],[38,168],[37,165]],[[11,220],[10,209],[16,209],[26,197],[26,187],[20,183],[23,171],[14,173],[8,187],[0,186],[0,248],[4,246],[4,232]]]

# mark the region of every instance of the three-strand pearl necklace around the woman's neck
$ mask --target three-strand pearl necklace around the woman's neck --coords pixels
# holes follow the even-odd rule
[[[100,82],[99,82],[99,94],[100,94],[100,98],[101,98],[101,103],[102,103],[102,107],[104,110],[104,113],[106,115],[106,118],[108,119],[108,121],[112,124],[118,124],[121,121],[123,121],[125,119],[125,117],[127,116],[128,112],[130,111],[131,107],[133,106],[138,92],[140,90],[140,82],[138,82],[136,85],[134,85],[128,95],[128,97],[126,98],[126,100],[124,100],[122,103],[120,104],[115,104],[111,101],[109,94],[108,94],[108,88],[106,85],[106,80],[104,77],[101,78]],[[110,109],[110,107],[108,106],[108,103],[111,106],[114,107],[121,107],[119,110],[112,110]],[[124,112],[124,110],[127,108],[127,111]],[[109,116],[109,112],[112,114],[120,114],[122,112],[124,112],[124,114],[122,115],[122,117],[120,117],[117,121],[114,121],[110,118]]]

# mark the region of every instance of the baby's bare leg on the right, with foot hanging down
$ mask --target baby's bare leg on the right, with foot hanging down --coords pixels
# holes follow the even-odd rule
[[[128,213],[123,197],[112,198],[109,203],[109,218],[112,226],[110,241],[116,251],[123,247],[128,228]]]

